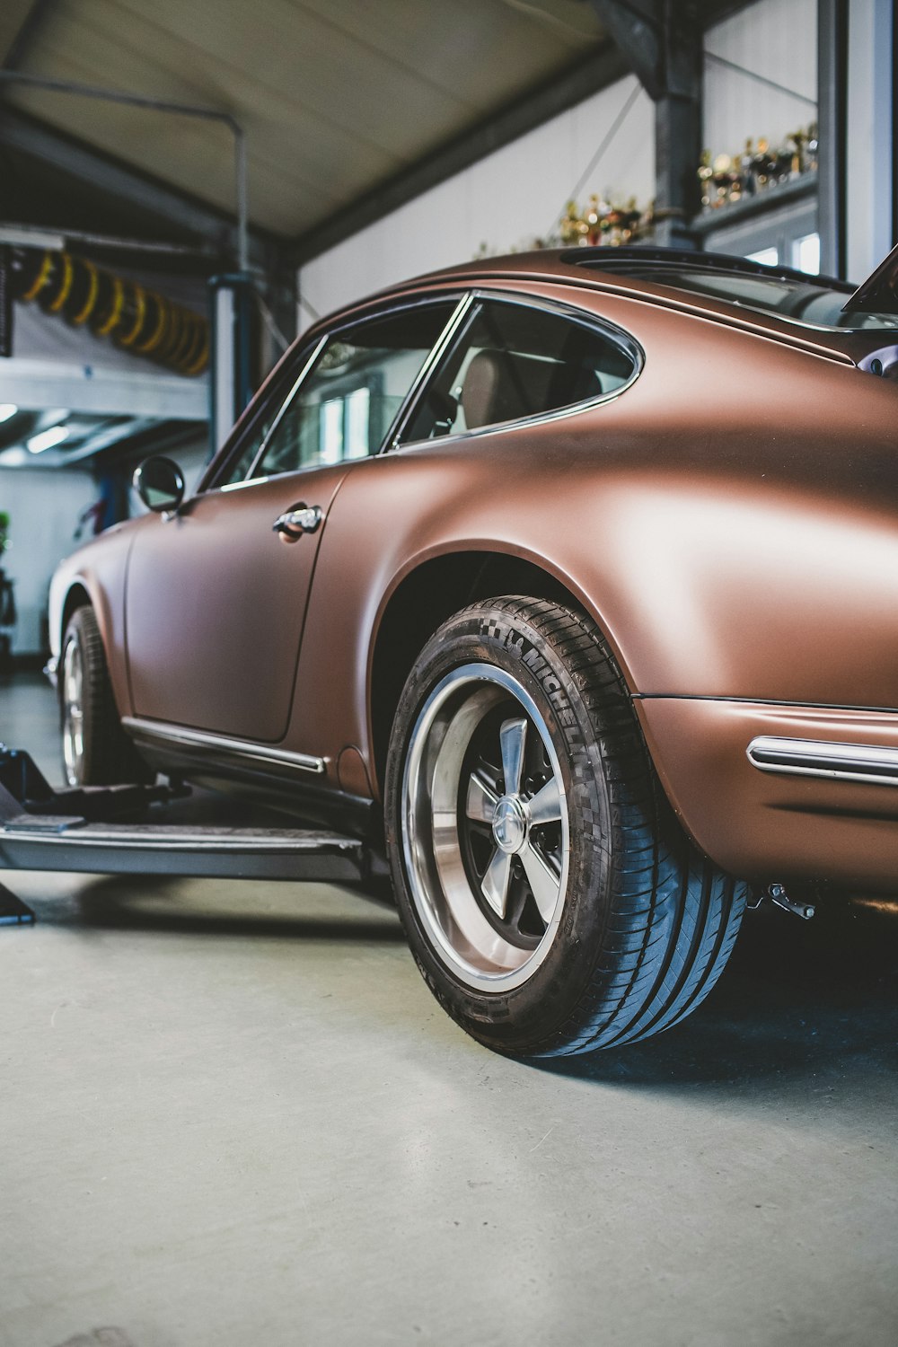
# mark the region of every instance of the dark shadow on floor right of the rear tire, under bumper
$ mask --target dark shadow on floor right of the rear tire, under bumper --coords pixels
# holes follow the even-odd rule
[[[866,901],[875,905],[864,905]],[[749,912],[720,982],[666,1033],[619,1049],[534,1063],[596,1083],[812,1083],[825,1094],[875,1075],[898,1094],[898,904],[821,905],[812,921]],[[898,1102],[898,1100],[897,1100]]]

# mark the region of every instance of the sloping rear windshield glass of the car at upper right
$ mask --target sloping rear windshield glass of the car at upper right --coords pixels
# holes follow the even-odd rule
[[[788,322],[804,323],[810,327],[847,329],[858,331],[870,327],[898,327],[894,314],[864,314],[854,310],[843,314],[843,306],[854,292],[854,286],[840,286],[839,282],[817,280],[797,276],[794,272],[782,275],[773,268],[770,275],[753,272],[746,275],[711,267],[695,267],[676,263],[641,263],[637,259],[609,259],[592,261],[584,259],[582,267],[596,271],[610,271],[615,275],[633,276],[638,280],[652,280],[675,290],[685,290],[693,295],[707,295],[710,299],[723,299],[739,308],[754,308],[762,314],[774,314]]]

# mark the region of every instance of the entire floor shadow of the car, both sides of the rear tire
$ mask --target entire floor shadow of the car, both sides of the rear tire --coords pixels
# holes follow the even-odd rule
[[[334,886],[333,916],[310,885],[241,886],[167,876],[90,878],[70,896],[28,901],[47,925],[86,931],[403,943],[394,908],[362,886]],[[257,892],[253,893],[253,889]],[[324,904],[331,896],[324,898]],[[295,915],[291,911],[296,904]],[[287,909],[287,911],[285,911]],[[657,1037],[587,1056],[520,1063],[561,1078],[642,1088],[695,1090],[758,1102],[813,1094],[864,1113],[898,1109],[898,904],[821,902],[801,921],[765,907],[746,915],[735,951],[705,1002]],[[758,1086],[765,1090],[757,1094]]]

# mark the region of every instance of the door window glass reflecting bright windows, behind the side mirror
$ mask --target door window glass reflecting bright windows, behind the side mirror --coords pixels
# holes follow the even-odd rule
[[[376,454],[455,308],[416,304],[334,333],[236,470],[273,477]]]

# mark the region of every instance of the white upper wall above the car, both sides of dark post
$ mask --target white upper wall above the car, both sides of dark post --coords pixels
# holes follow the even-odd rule
[[[876,3],[886,0],[852,0]],[[705,48],[817,97],[816,0],[758,0],[711,28]],[[545,236],[634,86],[634,77],[618,81],[347,237],[302,268],[300,294],[326,314],[405,276],[464,261],[482,244],[508,252]],[[802,98],[705,62],[704,143],[715,154],[740,151],[749,136],[775,143],[815,117]],[[654,110],[644,92],[579,199],[592,191],[635,195],[640,205],[654,195]],[[300,326],[308,325],[303,310]]]

